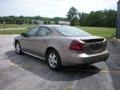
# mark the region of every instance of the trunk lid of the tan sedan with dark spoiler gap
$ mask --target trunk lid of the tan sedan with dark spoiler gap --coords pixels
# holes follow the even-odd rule
[[[107,46],[107,41],[103,37],[89,36],[80,37],[79,39],[84,43],[84,52],[87,54],[102,52]]]

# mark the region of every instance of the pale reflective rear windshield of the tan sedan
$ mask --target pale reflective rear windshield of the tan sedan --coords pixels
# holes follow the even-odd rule
[[[61,34],[64,36],[69,36],[69,37],[78,37],[78,36],[90,36],[89,33],[75,28],[75,27],[70,27],[70,26],[58,26],[55,27],[57,31],[59,31]]]

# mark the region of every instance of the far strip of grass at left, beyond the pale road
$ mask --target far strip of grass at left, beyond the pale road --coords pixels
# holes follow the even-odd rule
[[[5,28],[27,28],[30,26],[34,26],[34,25],[30,25],[30,24],[22,24],[22,25],[18,25],[18,24],[5,24]],[[0,24],[0,29],[4,28],[3,24]]]

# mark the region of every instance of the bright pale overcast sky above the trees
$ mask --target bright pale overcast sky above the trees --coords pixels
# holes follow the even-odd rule
[[[117,9],[118,0],[0,0],[0,16],[66,17],[71,6],[79,12]]]

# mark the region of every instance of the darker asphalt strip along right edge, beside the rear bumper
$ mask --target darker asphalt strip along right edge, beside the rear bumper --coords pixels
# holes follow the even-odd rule
[[[111,40],[108,42],[110,57],[107,60],[109,74],[112,79],[114,90],[120,90],[120,46]]]

